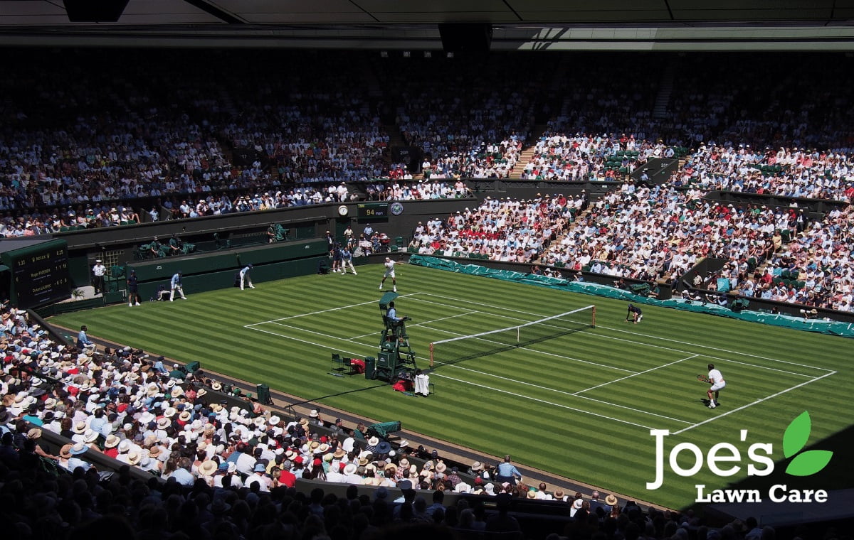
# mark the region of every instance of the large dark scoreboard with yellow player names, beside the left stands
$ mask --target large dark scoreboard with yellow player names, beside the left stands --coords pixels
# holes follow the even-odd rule
[[[21,247],[0,255],[12,273],[9,290],[12,303],[20,309],[68,299],[68,245],[51,240]]]

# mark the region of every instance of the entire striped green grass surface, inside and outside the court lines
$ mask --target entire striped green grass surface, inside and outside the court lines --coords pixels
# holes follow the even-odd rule
[[[826,448],[822,441],[834,444],[831,436],[850,433],[844,430],[854,415],[846,403],[854,387],[851,340],[652,306],[635,325],[624,322],[623,301],[410,265],[398,265],[397,307],[412,316],[407,328],[421,368],[431,341],[590,304],[597,306],[597,326],[485,356],[485,343],[440,347],[430,398],[407,397],[360,376],[333,377],[331,352],[377,356],[382,267],[358,270],[359,276],[302,276],[246,291],[187,290],[188,300],[115,305],[51,322],[87,324],[93,336],[197,360],[207,371],[263,382],[321,407],[400,420],[407,430],[495,456],[510,453],[531,467],[670,508],[691,505],[694,485],[711,490],[745,480],[753,443],[774,444],[778,464],[770,478],[778,478],[786,465],[782,433],[804,410],[812,419],[808,445]],[[728,382],[715,410],[701,401],[707,386],[696,379],[710,362]],[[670,430],[668,450],[681,442],[703,452],[732,443],[742,456],[735,463],[740,471],[722,478],[704,466],[681,478],[667,467],[664,486],[647,490],[655,472],[652,428]],[[740,430],[747,430],[744,442]],[[854,474],[844,463],[851,450],[838,446],[828,449],[835,455],[822,473],[782,481],[850,487]],[[688,467],[688,457],[682,452],[678,463]]]

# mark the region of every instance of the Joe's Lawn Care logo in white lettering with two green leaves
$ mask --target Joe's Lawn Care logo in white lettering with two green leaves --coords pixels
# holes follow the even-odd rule
[[[783,433],[783,457],[792,458],[786,467],[786,473],[792,476],[810,476],[818,473],[830,462],[834,453],[829,450],[804,450],[810,438],[812,421],[810,413],[805,411],[798,415]],[[647,490],[657,490],[664,484],[664,437],[670,435],[666,429],[651,429],[650,435],[655,438],[655,479],[646,483]],[[747,430],[740,431],[740,441],[747,440]],[[678,460],[681,455],[693,456],[689,467],[682,467]],[[774,472],[774,444],[754,443],[747,447],[746,463],[748,476],[768,476]],[[679,443],[670,450],[668,462],[670,469],[681,477],[693,476],[702,468],[726,478],[741,471],[743,457],[734,444],[714,444],[705,454],[693,443]],[[758,490],[713,490],[705,491],[705,485],[698,484],[696,502],[762,502]],[[773,502],[826,502],[828,492],[824,490],[788,490],[785,484],[772,485],[768,492]]]

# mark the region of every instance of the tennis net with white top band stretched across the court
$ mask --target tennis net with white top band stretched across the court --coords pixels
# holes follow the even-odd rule
[[[588,305],[507,328],[438,340],[430,343],[430,367],[433,367],[436,359],[442,363],[452,363],[485,357],[595,326],[596,306]]]

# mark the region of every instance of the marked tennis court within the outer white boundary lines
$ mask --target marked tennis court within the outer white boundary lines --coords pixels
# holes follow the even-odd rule
[[[338,350],[353,357],[371,356],[376,352],[378,332],[352,334],[343,331],[346,328],[330,328],[327,316],[338,311],[351,320],[364,320],[370,318],[376,304],[371,301],[343,305],[250,323],[246,328],[309,345],[328,346],[325,344],[332,340],[339,342]],[[428,339],[441,344],[442,350],[436,353],[431,373],[436,383],[453,381],[498,392],[507,400],[518,402],[519,407],[524,407],[526,401],[537,401],[555,409],[593,415],[603,421],[643,430],[685,432],[836,373],[725,348],[654,337],[650,340],[646,335],[644,340],[636,340],[633,334],[640,334],[634,330],[637,327],[631,327],[632,330],[601,325],[594,328],[591,311],[584,309],[570,314],[569,319],[576,328],[568,329],[555,325],[547,314],[434,293],[401,294],[399,305],[406,305],[407,314],[416,321],[409,325],[411,336],[422,334],[419,342]],[[436,316],[437,310],[445,315]],[[547,320],[538,325],[535,322],[538,319]],[[530,322],[535,323],[524,326],[521,335],[514,334],[519,331],[518,325]],[[506,328],[508,323],[517,326],[493,334],[499,328]],[[468,337],[453,329],[460,327],[483,328],[484,334]],[[533,337],[528,338],[526,334]],[[518,337],[514,340],[514,336]],[[633,356],[611,357],[596,353],[613,344],[630,347]],[[419,355],[419,367],[426,369],[428,355]],[[543,363],[579,370],[584,375],[573,378],[568,384],[557,385],[548,369],[540,369]],[[722,392],[724,405],[713,413],[701,406],[705,384],[696,381],[696,375],[705,373],[708,363],[716,363],[718,369],[727,374],[727,379],[733,381]],[[769,385],[768,380],[773,382]],[[761,394],[755,392],[757,386],[763,388]],[[658,392],[667,389],[670,404],[646,398],[646,394],[656,388]],[[692,406],[674,412],[673,404],[679,403]],[[643,420],[626,420],[623,416],[627,411]]]

